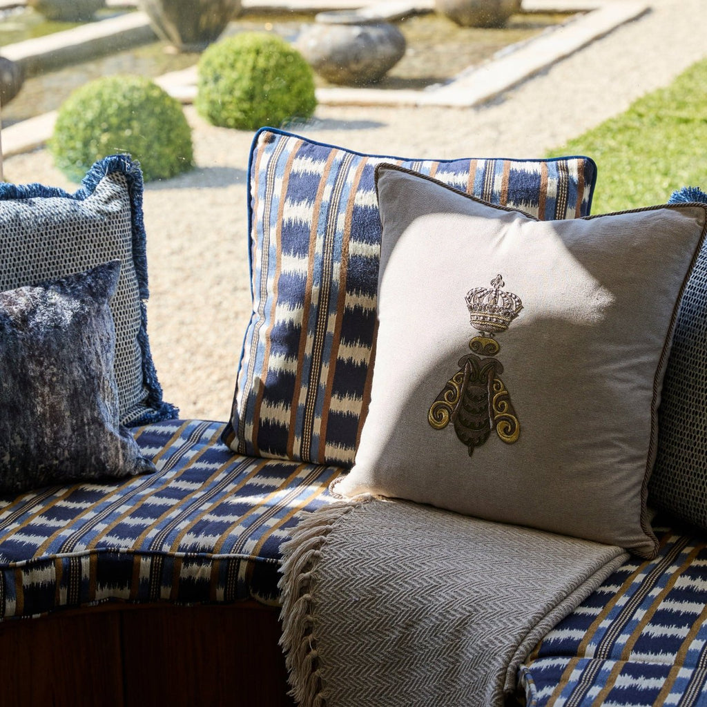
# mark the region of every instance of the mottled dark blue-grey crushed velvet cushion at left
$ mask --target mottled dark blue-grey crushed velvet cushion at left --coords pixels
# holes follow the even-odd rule
[[[120,263],[0,293],[0,493],[153,471],[118,423]]]

